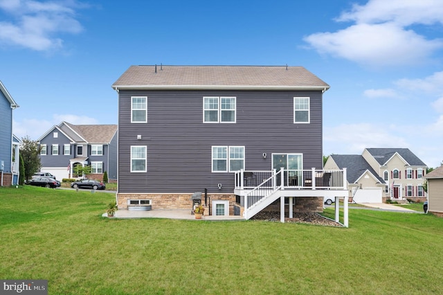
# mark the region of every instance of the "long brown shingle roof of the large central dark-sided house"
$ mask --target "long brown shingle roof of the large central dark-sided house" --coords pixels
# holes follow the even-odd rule
[[[302,66],[130,66],[114,89],[316,89],[329,85]]]

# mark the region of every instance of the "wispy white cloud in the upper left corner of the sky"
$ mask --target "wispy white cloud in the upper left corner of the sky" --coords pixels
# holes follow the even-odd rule
[[[82,26],[75,19],[74,8],[82,4],[72,1],[39,2],[0,0],[0,9],[11,19],[0,21],[0,43],[14,44],[35,51],[62,47],[57,33],[80,33]]]

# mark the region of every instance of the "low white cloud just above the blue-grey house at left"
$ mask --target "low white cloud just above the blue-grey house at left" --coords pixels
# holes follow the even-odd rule
[[[45,134],[54,125],[59,125],[62,121],[74,125],[96,125],[98,121],[95,118],[87,116],[77,116],[72,114],[55,114],[52,120],[24,119],[22,121],[14,120],[12,133],[19,138],[29,136],[32,140],[37,140]]]

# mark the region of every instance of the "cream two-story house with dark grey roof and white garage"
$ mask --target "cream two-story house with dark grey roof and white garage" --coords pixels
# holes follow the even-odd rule
[[[355,202],[426,199],[426,164],[407,148],[367,148],[361,156],[332,154],[325,163],[325,169],[343,167],[347,167],[349,196]]]

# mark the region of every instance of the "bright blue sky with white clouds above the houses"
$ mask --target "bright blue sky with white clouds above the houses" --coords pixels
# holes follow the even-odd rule
[[[440,0],[0,0],[0,80],[14,133],[116,124],[133,64],[305,66],[323,96],[324,154],[408,147],[443,161]]]

